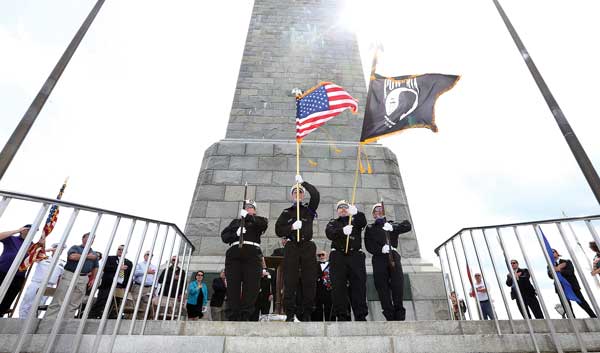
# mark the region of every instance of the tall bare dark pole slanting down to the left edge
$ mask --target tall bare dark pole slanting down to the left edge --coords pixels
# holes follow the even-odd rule
[[[60,79],[60,76],[62,75],[63,71],[67,67],[67,64],[73,57],[75,50],[77,50],[79,43],[81,43],[83,36],[90,28],[90,25],[94,21],[94,18],[100,11],[100,8],[103,4],[104,0],[98,0],[96,2],[96,5],[90,11],[89,15],[86,17],[85,21],[71,40],[71,43],[56,63],[56,66],[50,73],[50,76],[48,76],[48,78],[46,79],[46,82],[44,82],[44,85],[38,92],[37,96],[35,97],[33,102],[31,102],[31,105],[25,112],[25,115],[23,115],[23,117],[21,118],[19,125],[17,125],[17,127],[13,131],[12,135],[8,139],[8,142],[6,142],[6,145],[4,145],[2,152],[0,152],[0,179],[2,179],[4,173],[6,173],[8,166],[17,154],[19,147],[25,140],[25,137],[29,133],[29,130],[31,130],[33,123],[37,119],[37,116],[40,114],[42,108],[44,107],[46,100],[48,100],[50,93],[52,93],[54,86],[56,86],[56,83]]]

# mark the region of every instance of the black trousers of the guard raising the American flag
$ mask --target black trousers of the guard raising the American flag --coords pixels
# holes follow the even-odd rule
[[[288,316],[302,312],[310,318],[315,306],[317,288],[317,247],[312,241],[288,241],[283,258],[283,306]],[[302,307],[296,305],[298,279],[302,285]],[[302,319],[302,318],[301,318]]]

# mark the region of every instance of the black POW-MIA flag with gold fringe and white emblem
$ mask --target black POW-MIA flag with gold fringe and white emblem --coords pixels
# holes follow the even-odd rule
[[[360,141],[367,143],[399,131],[425,127],[437,132],[434,105],[460,76],[424,74],[400,77],[375,75],[369,86]]]

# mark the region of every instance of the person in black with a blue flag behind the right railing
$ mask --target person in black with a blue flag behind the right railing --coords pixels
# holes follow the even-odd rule
[[[544,236],[544,241],[548,246],[548,241]],[[573,317],[575,317],[575,312],[573,311],[573,307],[571,306],[571,301],[577,302],[579,306],[591,317],[596,318],[596,313],[590,307],[588,302],[585,300],[585,297],[581,293],[581,287],[579,286],[579,281],[575,276],[575,268],[573,267],[573,263],[571,260],[561,259],[561,255],[556,251],[556,249],[551,249],[552,259],[554,259],[554,271],[559,275],[559,281],[563,290],[565,292],[565,296],[567,297],[567,301],[569,307],[571,308],[571,312],[573,313]],[[550,273],[550,269],[548,269],[548,277],[552,278],[552,274]],[[562,278],[562,279],[561,279]],[[556,289],[558,293],[558,289]],[[559,296],[560,299],[560,296]],[[564,303],[561,303],[564,308]],[[566,312],[566,309],[565,309]]]

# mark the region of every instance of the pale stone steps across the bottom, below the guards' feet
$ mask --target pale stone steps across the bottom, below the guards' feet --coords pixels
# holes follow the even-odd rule
[[[498,335],[492,321],[405,321],[405,322],[148,322],[145,335],[128,336],[123,322],[113,352],[534,352],[524,321],[515,321],[517,333],[510,332],[508,321],[500,321]],[[11,352],[23,322],[0,320],[0,352]],[[40,322],[24,347],[25,352],[40,352],[51,322]],[[70,352],[78,320],[65,322],[54,352]],[[543,320],[532,321],[541,351],[554,352]],[[579,352],[576,337],[567,320],[554,320],[558,339],[565,352]],[[105,332],[112,332],[109,321]],[[589,351],[600,351],[600,321],[577,320]],[[98,321],[90,320],[80,352],[90,347]],[[110,336],[102,338],[99,352],[108,352]]]

